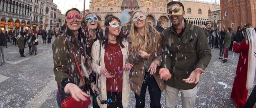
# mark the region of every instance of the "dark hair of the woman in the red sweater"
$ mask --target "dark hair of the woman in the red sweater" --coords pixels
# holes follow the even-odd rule
[[[105,29],[105,31],[103,31],[103,37],[102,37],[102,39],[101,39],[101,43],[102,43],[102,46],[103,46],[103,48],[104,49],[106,49],[106,45],[109,43],[109,39],[108,39],[108,33],[109,33],[109,23],[113,20],[113,19],[116,19],[118,22],[121,22],[120,21],[120,19],[119,18],[117,18],[117,17],[109,17],[106,21],[105,21],[105,26],[107,26],[106,27],[106,29]],[[105,35],[104,35],[105,34]],[[122,44],[122,41],[124,40],[124,33],[123,33],[123,29],[121,28],[121,32],[119,33],[119,35],[118,36],[116,36],[116,40],[117,40],[117,42],[119,43],[119,45],[122,47],[122,48],[124,48],[124,45]]]

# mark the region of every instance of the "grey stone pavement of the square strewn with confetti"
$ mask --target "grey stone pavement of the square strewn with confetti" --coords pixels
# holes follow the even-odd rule
[[[0,67],[0,108],[57,108],[52,46],[43,45],[39,39],[37,48],[37,56],[29,56],[26,48],[24,58],[20,57],[19,49],[10,43],[4,49],[6,63]],[[218,53],[218,48],[212,49],[211,62],[206,73],[200,76],[195,108],[235,108],[229,98],[239,54],[230,52],[229,61],[222,63]],[[134,93],[131,94],[129,108],[134,108]],[[145,108],[150,108],[149,102],[147,92]],[[161,104],[164,108],[164,93]],[[180,94],[175,108],[182,108]]]

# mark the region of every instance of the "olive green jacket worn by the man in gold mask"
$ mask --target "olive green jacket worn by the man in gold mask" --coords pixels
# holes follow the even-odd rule
[[[189,24],[184,19],[186,27],[181,38],[174,27],[168,27],[162,32],[162,68],[168,68],[172,74],[165,84],[176,89],[192,89],[196,84],[187,84],[187,79],[195,68],[205,69],[211,60],[211,50],[204,30]]]

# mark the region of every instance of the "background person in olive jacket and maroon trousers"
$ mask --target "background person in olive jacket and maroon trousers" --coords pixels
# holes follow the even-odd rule
[[[223,60],[223,63],[226,63],[227,62],[227,58],[228,58],[228,51],[229,51],[229,47],[230,47],[230,44],[231,44],[231,28],[228,27],[227,28],[227,34],[223,40],[223,53],[224,53],[224,57],[225,59]]]

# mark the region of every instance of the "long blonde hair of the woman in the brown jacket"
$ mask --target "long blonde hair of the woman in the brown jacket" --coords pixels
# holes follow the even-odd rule
[[[132,14],[132,18],[135,15],[135,13],[141,12],[143,15],[145,13],[141,10],[137,10]],[[146,15],[145,15],[146,16]],[[161,36],[158,31],[155,30],[155,28],[146,21],[145,25],[145,42],[142,41],[143,38],[141,35],[139,35],[138,30],[136,29],[134,22],[132,23],[131,31],[130,31],[130,38],[132,40],[132,47],[131,50],[132,52],[138,52],[140,50],[145,51],[147,53],[153,53],[156,50],[161,50]],[[153,34],[152,34],[153,33]]]

